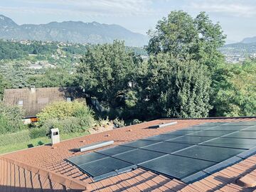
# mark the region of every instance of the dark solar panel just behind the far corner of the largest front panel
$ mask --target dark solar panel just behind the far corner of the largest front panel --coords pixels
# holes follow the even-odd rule
[[[193,146],[193,144],[178,144],[178,143],[170,143],[170,142],[161,142],[159,144],[152,144],[150,146],[145,146],[143,149],[151,150],[151,151],[159,151],[166,154],[171,154],[174,151],[178,151],[181,149],[185,149],[189,146]]]

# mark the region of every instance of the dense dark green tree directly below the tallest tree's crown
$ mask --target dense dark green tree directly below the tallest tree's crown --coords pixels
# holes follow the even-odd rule
[[[208,116],[211,81],[206,66],[159,53],[137,73],[139,113],[154,118]]]

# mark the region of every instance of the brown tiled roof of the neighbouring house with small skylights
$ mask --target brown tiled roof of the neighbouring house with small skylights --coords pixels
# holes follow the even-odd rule
[[[45,87],[23,88],[4,90],[3,102],[6,105],[20,106],[25,112],[25,117],[36,117],[46,105],[56,101],[66,101],[81,97],[76,87]]]

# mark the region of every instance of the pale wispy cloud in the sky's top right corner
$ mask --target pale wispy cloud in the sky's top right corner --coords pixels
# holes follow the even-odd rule
[[[255,1],[247,0],[209,0],[193,1],[190,4],[191,9],[207,11],[211,13],[227,14],[230,16],[252,17],[256,15]]]

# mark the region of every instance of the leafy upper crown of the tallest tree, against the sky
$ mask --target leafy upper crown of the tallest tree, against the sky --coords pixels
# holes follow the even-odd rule
[[[192,18],[184,11],[171,11],[148,33],[149,54],[169,53],[176,58],[201,60],[210,68],[223,60],[218,48],[224,45],[225,35],[220,24],[214,24],[204,12]]]

